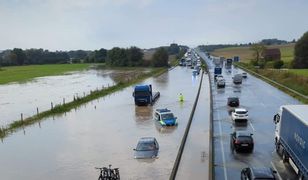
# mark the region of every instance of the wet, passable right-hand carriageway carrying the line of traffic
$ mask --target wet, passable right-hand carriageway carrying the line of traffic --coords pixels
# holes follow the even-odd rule
[[[205,58],[204,54],[203,57]],[[213,77],[214,65],[210,60],[210,73]],[[272,87],[264,81],[248,74],[241,85],[234,85],[232,76],[243,71],[232,67],[231,72],[223,68],[222,75],[226,87],[217,89],[212,81],[214,109],[214,173],[215,179],[240,179],[240,172],[246,167],[272,167],[278,170],[282,179],[296,179],[294,171],[284,165],[277,157],[274,144],[273,116],[279,107],[285,104],[299,104],[296,99]],[[246,125],[235,125],[227,106],[227,98],[236,96],[240,107],[248,110],[249,120]],[[230,133],[236,130],[248,130],[253,133],[254,150],[252,153],[236,153],[230,148]]]

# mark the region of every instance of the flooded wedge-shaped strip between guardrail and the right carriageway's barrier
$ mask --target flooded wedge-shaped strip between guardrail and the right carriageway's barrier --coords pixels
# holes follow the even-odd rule
[[[210,82],[204,74],[199,100],[187,137],[176,179],[208,179],[210,139]]]

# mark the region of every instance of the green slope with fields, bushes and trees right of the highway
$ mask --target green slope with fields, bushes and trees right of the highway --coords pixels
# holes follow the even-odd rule
[[[308,96],[308,32],[296,43],[266,45],[251,44],[245,47],[227,47],[215,49],[212,54],[226,58],[240,57],[238,65],[291,88],[304,96]],[[264,55],[267,49],[279,49],[279,59],[267,59]],[[271,83],[273,84],[273,83]],[[273,84],[278,87],[277,85]],[[304,103],[308,99],[298,96],[287,89],[278,87]]]

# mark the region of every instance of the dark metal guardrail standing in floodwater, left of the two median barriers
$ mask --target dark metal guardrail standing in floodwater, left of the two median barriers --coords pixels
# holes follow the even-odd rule
[[[200,80],[197,96],[196,96],[196,99],[195,99],[192,111],[190,113],[189,120],[188,120],[188,123],[186,125],[186,129],[185,129],[185,132],[184,132],[181,144],[180,144],[180,148],[179,148],[178,154],[176,156],[176,159],[175,159],[175,162],[174,162],[174,165],[173,165],[170,177],[169,177],[170,180],[174,180],[175,179],[176,173],[177,173],[178,168],[179,168],[179,164],[180,164],[180,161],[181,161],[181,158],[182,158],[182,154],[183,154],[183,151],[184,151],[184,147],[185,147],[185,143],[186,143],[186,140],[187,140],[187,136],[188,136],[188,133],[189,133],[189,130],[190,130],[190,126],[191,126],[191,123],[192,123],[192,120],[193,120],[193,117],[194,117],[194,114],[195,114],[195,110],[196,110],[196,107],[197,107],[197,103],[198,103],[198,100],[199,100],[201,85],[202,85],[202,81],[203,81],[203,74],[204,74],[204,71],[202,71],[202,76],[201,76],[201,80]]]

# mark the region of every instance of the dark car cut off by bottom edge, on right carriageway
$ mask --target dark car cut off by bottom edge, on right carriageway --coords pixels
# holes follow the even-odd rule
[[[241,180],[257,180],[257,179],[267,179],[276,180],[277,171],[274,171],[269,167],[261,168],[251,168],[247,167],[241,171]]]

